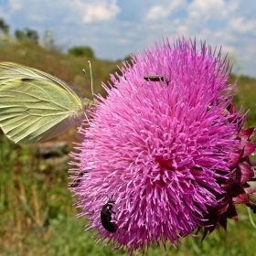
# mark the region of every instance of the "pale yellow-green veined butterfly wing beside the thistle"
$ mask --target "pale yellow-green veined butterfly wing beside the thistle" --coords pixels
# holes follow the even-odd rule
[[[0,126],[15,143],[36,143],[64,133],[80,123],[83,109],[64,81],[37,69],[0,63]]]

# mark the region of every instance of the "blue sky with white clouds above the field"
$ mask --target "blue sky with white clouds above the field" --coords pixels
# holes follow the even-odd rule
[[[255,0],[0,0],[0,16],[12,33],[50,29],[61,47],[89,46],[100,59],[143,53],[162,37],[197,37],[256,77]]]

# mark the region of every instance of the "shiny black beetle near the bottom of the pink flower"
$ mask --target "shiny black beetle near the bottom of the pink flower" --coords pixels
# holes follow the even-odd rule
[[[112,211],[112,204],[115,201],[111,198],[101,209],[101,224],[104,229],[108,230],[111,233],[115,233],[118,229],[117,225],[112,221],[112,214],[115,214]]]

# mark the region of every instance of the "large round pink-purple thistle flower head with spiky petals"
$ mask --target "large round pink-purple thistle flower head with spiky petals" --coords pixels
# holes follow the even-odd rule
[[[242,195],[253,176],[243,173],[255,144],[248,144],[251,130],[241,130],[245,114],[233,107],[227,62],[205,43],[197,50],[196,41],[178,39],[171,48],[164,40],[103,84],[108,96],[98,96],[79,153],[71,154],[72,172],[83,175],[70,189],[98,241],[132,254],[154,242],[176,247],[197,228],[237,219],[232,192],[240,187]]]

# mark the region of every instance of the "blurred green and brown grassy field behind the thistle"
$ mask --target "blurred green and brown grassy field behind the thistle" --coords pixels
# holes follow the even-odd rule
[[[91,97],[90,83],[81,69],[88,70],[86,58],[75,58],[58,51],[46,51],[31,42],[10,44],[0,48],[0,61],[13,61],[44,70],[67,81],[82,97]],[[109,80],[120,62],[91,59],[94,90],[104,92],[101,81]],[[230,79],[234,82],[235,77]],[[247,126],[256,125],[256,80],[238,79],[235,101],[251,109]],[[84,232],[86,220],[77,219],[76,201],[68,189],[69,156],[76,129],[60,135],[47,145],[67,142],[65,150],[51,157],[41,152],[39,145],[19,146],[0,133],[0,255],[126,255],[112,252],[95,244],[92,232]],[[240,223],[229,220],[228,232],[223,229],[210,234],[202,243],[187,237],[177,249],[167,251],[153,246],[145,255],[225,255],[252,256],[255,254],[256,229],[251,226],[247,208],[240,206]],[[256,217],[253,217],[256,221]]]

